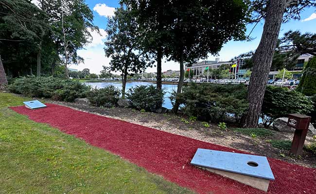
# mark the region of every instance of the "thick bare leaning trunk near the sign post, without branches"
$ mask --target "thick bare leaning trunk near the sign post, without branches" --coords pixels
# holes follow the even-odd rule
[[[249,109],[244,119],[244,127],[253,128],[258,126],[266,82],[277,46],[286,1],[267,1],[263,34],[254,55],[252,76],[248,87]]]

